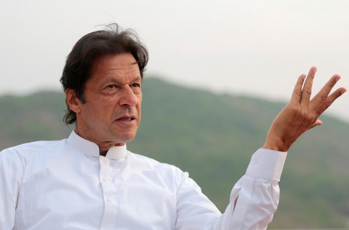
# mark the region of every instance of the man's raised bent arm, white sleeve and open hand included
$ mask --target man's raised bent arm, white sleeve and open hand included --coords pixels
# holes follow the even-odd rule
[[[175,229],[266,229],[279,202],[278,181],[286,152],[305,131],[321,125],[319,116],[346,92],[341,87],[329,95],[340,79],[334,75],[310,100],[316,70],[312,67],[306,80],[305,75],[298,78],[291,101],[274,119],[263,149],[254,154],[246,174],[233,187],[230,204],[223,215],[186,175],[177,193]]]

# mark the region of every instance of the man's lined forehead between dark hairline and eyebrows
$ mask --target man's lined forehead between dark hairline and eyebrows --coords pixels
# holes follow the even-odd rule
[[[122,81],[138,76],[141,79],[136,59],[130,53],[105,55],[96,58],[92,62],[90,74],[89,80],[93,82],[103,81],[106,78],[115,78]]]

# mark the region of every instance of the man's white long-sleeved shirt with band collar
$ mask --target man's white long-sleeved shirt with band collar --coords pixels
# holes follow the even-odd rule
[[[73,131],[0,152],[0,230],[263,230],[285,159],[257,150],[221,214],[188,173]]]

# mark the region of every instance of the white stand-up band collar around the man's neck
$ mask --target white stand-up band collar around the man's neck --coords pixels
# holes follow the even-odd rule
[[[99,157],[99,147],[97,144],[80,137],[73,130],[67,140],[67,144],[82,151],[85,155]],[[112,160],[119,160],[126,157],[126,144],[111,147],[106,157]]]

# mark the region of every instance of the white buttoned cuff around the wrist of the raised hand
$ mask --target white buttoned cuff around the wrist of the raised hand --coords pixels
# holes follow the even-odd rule
[[[252,155],[246,175],[280,181],[286,155],[287,152],[260,148]]]

